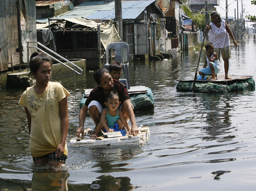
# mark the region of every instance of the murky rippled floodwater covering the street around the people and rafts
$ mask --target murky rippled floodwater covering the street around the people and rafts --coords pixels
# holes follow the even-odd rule
[[[232,75],[256,74],[256,41],[231,47]],[[199,51],[198,51],[199,52]],[[149,126],[145,146],[72,148],[58,172],[33,165],[24,109],[24,89],[0,92],[0,186],[2,190],[255,190],[256,93],[182,93],[177,80],[195,75],[198,52],[179,53],[161,62],[130,63],[132,86],[151,87],[153,111],[136,112],[137,124]],[[204,51],[203,51],[204,52]],[[202,53],[202,64],[203,67]],[[220,75],[224,74],[221,60]],[[54,74],[53,74],[54,76]],[[93,73],[55,79],[70,92],[67,142],[78,127],[84,88]],[[85,127],[94,127],[88,117]]]

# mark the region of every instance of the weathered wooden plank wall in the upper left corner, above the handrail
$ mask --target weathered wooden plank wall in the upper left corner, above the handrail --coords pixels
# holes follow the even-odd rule
[[[26,41],[36,41],[36,1],[1,0],[0,26],[0,71],[5,71],[27,62]]]

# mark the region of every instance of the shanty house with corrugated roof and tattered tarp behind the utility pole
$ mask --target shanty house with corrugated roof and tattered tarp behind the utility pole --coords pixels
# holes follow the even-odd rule
[[[88,69],[99,68],[98,62],[105,62],[106,46],[121,41],[114,27],[114,1],[83,2],[50,20],[56,51],[66,58],[86,58]],[[65,21],[64,25],[60,20]],[[155,0],[122,1],[122,20],[123,41],[129,44],[130,60],[168,52],[163,43],[167,37],[165,21]]]

